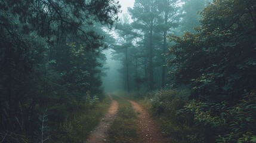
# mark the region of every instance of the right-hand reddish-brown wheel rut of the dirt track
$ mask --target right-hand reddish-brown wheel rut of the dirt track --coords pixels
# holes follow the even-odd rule
[[[158,128],[156,127],[152,117],[149,116],[146,110],[144,110],[139,104],[134,101],[131,102],[132,107],[137,113],[139,128],[138,132],[140,135],[140,140],[143,142],[165,142]]]

